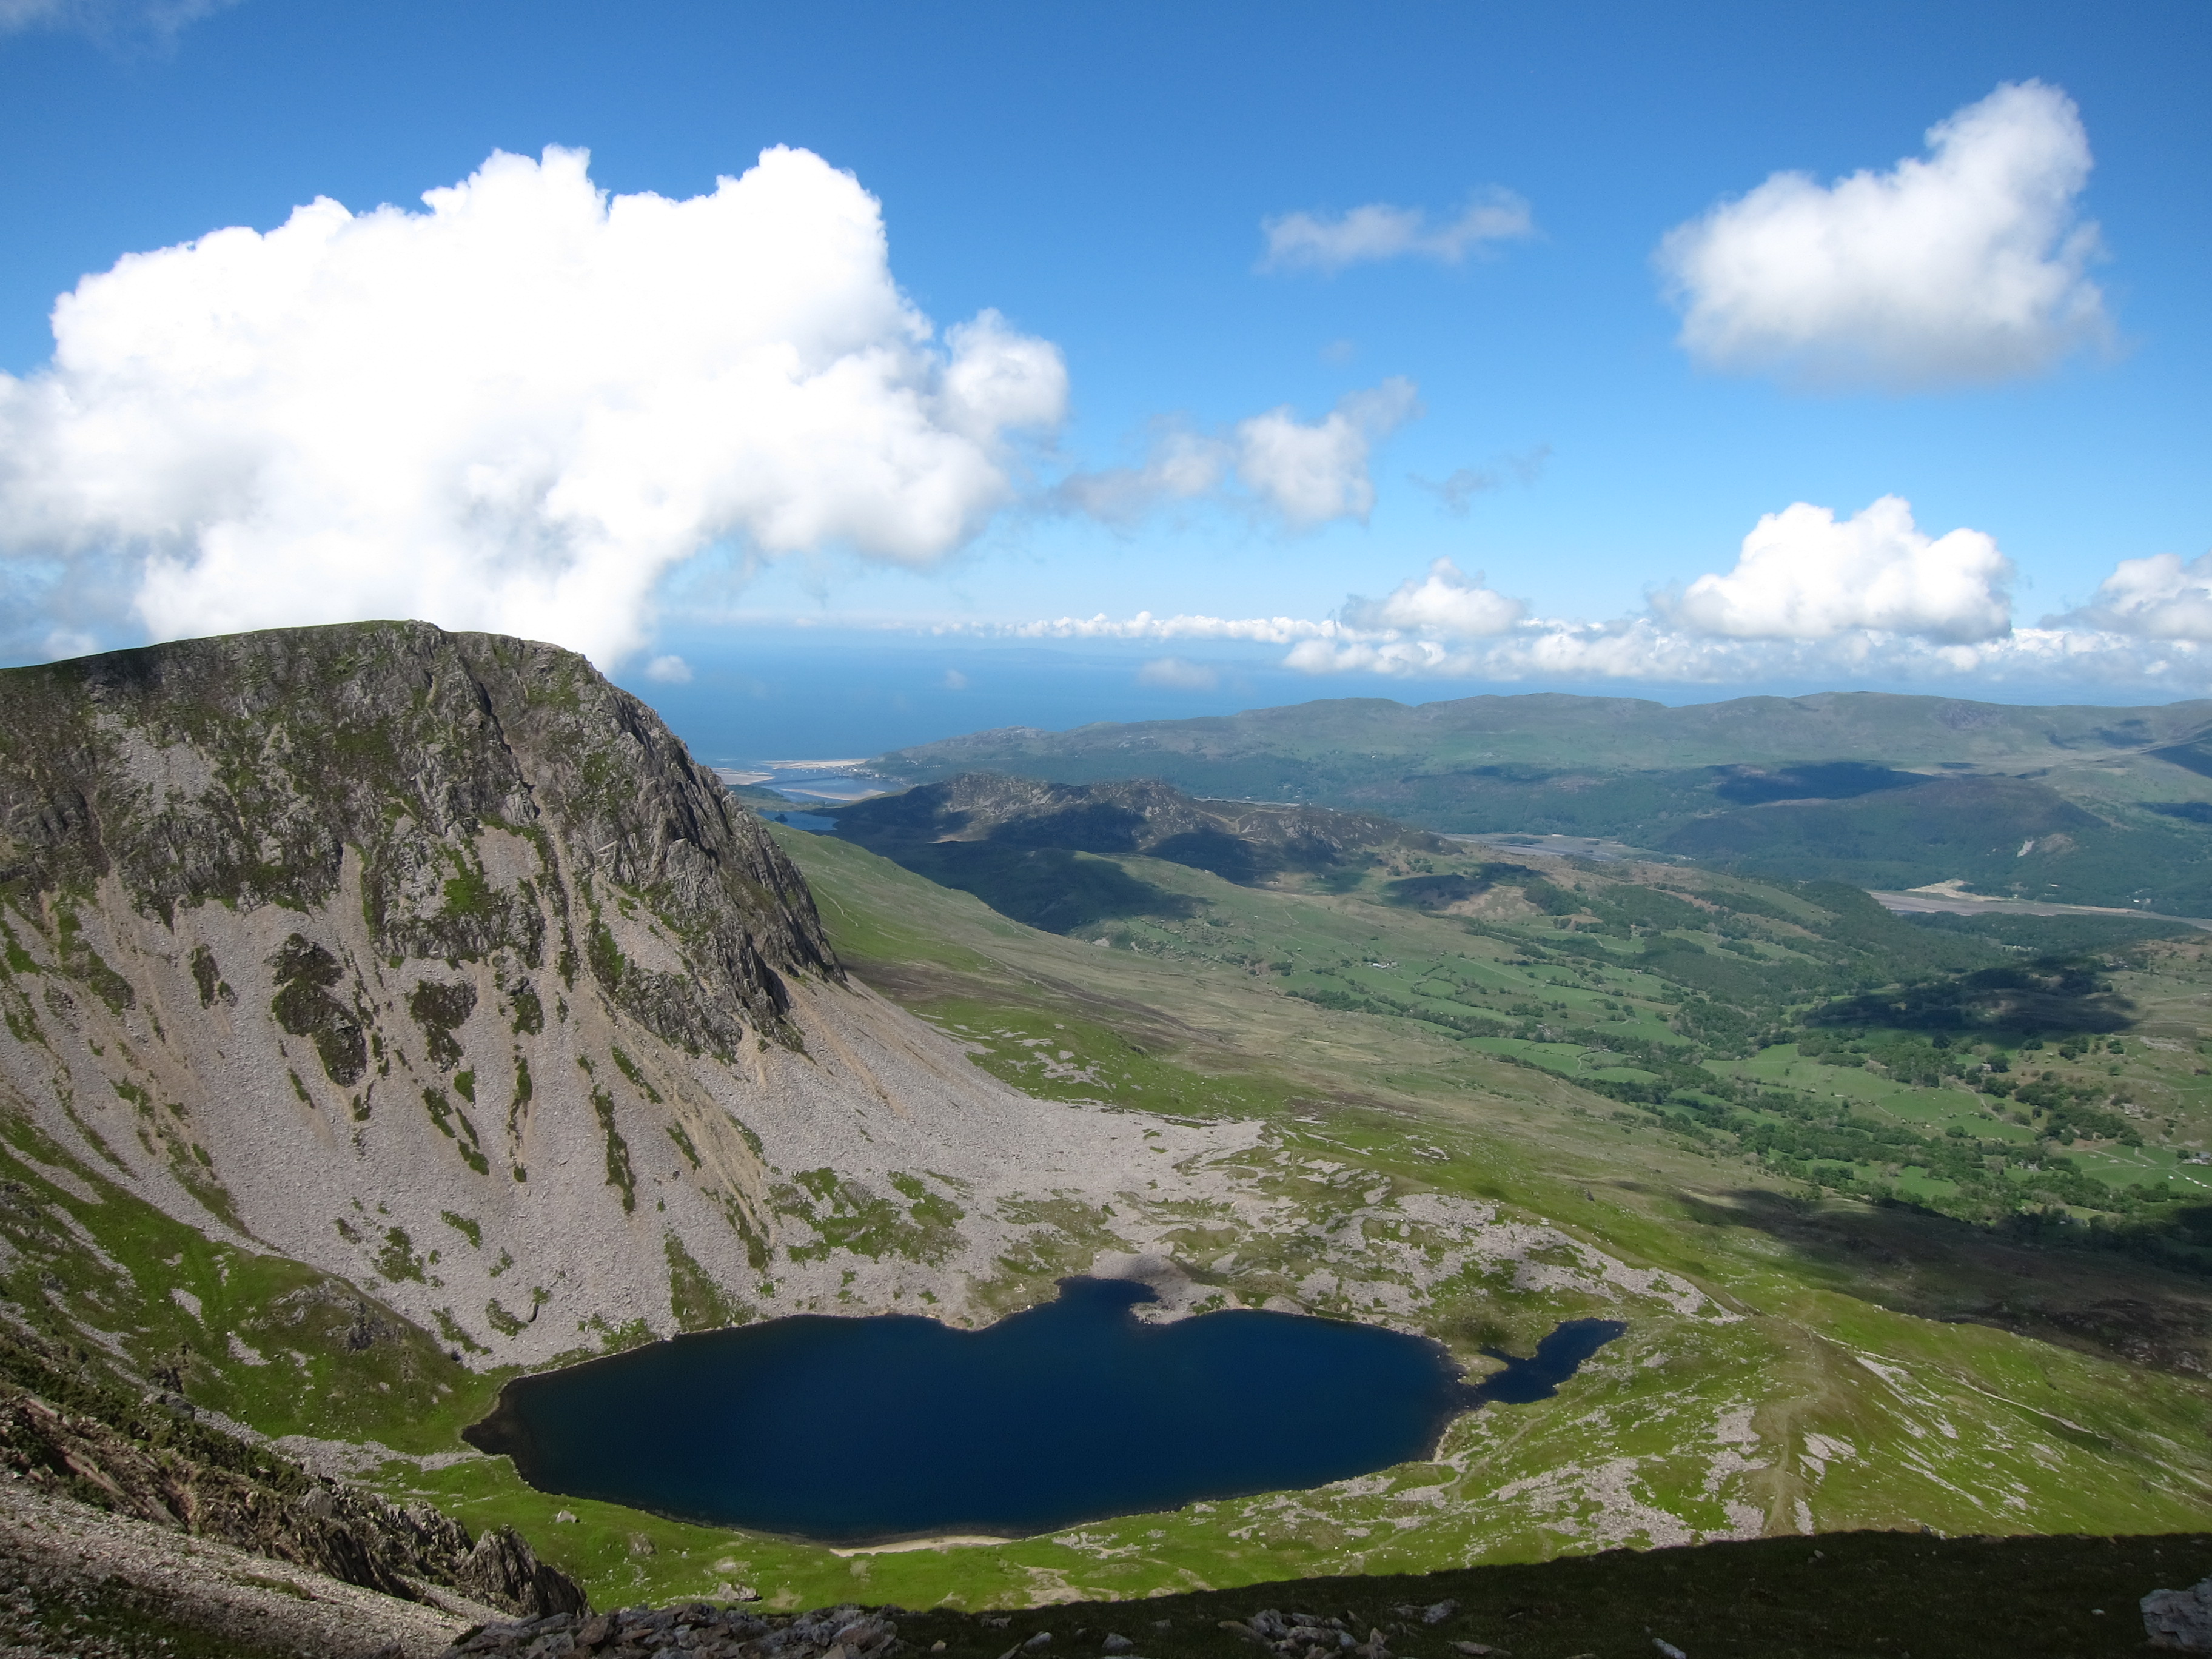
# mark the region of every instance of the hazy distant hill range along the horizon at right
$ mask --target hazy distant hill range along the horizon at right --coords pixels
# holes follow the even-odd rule
[[[894,750],[885,779],[1161,779],[1447,834],[1571,834],[1745,874],[2212,916],[2212,701],[2015,708],[1823,692],[1332,699],[1002,728]]]

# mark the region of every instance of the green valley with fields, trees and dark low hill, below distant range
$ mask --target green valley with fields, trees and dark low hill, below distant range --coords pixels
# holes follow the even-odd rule
[[[2143,1000],[2119,978],[2185,998],[2201,956],[2188,927],[1927,925],[1832,880],[1509,860],[1371,816],[1159,783],[964,774],[836,818],[838,838],[1013,920],[1102,947],[1197,949],[1314,1006],[1413,1020],[1774,1175],[2015,1230],[2079,1212],[2099,1243],[2212,1270],[2197,1243],[2212,1210],[2174,1183],[2179,1119],[2141,1104],[2152,1088],[2197,1091],[2141,1046]],[[1314,931],[1347,914],[1374,931]],[[2130,1033],[2148,1064],[2130,1068]]]

